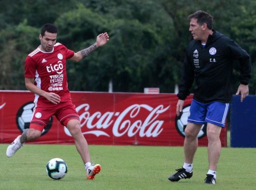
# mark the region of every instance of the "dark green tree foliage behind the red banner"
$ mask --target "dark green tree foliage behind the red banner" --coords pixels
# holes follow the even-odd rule
[[[68,5],[68,6],[67,6]],[[186,20],[204,10],[214,28],[236,40],[256,62],[256,2],[250,0],[24,0],[0,6],[0,89],[25,89],[24,59],[39,44],[45,23],[59,28],[57,41],[74,51],[107,31],[110,41],[79,63],[67,62],[70,90],[142,92],[159,87],[174,92],[186,45],[192,36]],[[239,66],[235,66],[237,78]],[[250,90],[256,89],[253,67]],[[234,91],[238,80],[234,80]]]

